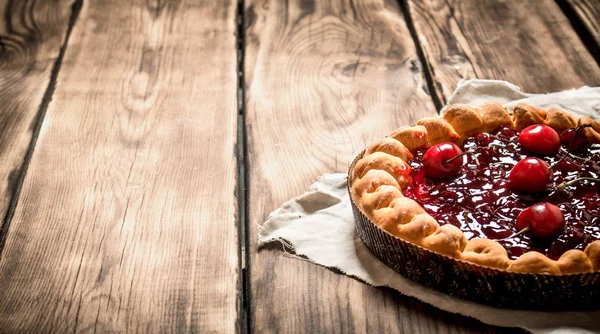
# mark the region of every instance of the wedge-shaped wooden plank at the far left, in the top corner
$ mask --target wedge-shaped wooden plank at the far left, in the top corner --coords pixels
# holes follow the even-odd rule
[[[0,1],[0,240],[73,2]]]

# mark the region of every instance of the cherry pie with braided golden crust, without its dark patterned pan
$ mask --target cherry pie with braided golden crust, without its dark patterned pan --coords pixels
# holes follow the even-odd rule
[[[511,273],[600,271],[600,124],[551,108],[449,106],[370,146],[353,204],[389,234]]]

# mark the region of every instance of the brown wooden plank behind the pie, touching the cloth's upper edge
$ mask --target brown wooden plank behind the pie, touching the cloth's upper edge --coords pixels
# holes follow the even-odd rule
[[[442,102],[463,78],[545,93],[600,84],[600,68],[552,0],[408,0]]]

